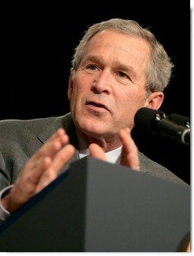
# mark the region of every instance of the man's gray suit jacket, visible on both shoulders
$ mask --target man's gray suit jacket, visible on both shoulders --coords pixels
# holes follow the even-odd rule
[[[0,121],[0,190],[16,181],[24,163],[59,127],[65,129],[70,143],[77,149],[72,162],[78,160],[78,141],[71,114],[34,120]],[[167,168],[151,161],[141,152],[139,158],[140,171],[185,184]]]

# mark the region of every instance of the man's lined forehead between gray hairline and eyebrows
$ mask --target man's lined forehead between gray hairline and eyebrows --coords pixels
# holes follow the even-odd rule
[[[146,40],[116,31],[105,30],[94,35],[87,43],[81,62],[102,59],[103,63],[120,63],[134,69],[137,74],[146,72],[151,50]]]

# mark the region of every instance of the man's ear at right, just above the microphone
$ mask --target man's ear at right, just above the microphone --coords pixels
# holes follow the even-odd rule
[[[161,91],[153,92],[148,96],[145,102],[145,107],[149,107],[154,110],[157,110],[159,107],[161,107],[163,100],[164,100],[163,92]]]

